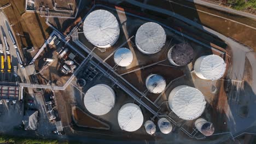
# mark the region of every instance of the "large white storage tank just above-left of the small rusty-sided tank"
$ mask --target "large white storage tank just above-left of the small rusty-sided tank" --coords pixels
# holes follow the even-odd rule
[[[205,110],[205,96],[196,88],[178,86],[172,89],[168,103],[172,111],[185,120],[193,120]]]

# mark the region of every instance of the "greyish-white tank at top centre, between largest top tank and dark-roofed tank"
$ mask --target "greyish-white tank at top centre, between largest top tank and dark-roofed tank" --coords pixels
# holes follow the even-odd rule
[[[135,44],[139,51],[150,55],[159,52],[165,45],[166,33],[158,23],[147,22],[138,28]]]

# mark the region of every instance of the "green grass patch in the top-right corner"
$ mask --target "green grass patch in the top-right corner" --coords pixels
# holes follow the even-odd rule
[[[244,10],[247,8],[256,9],[256,0],[248,0],[245,2],[245,0],[228,0],[228,4],[231,4],[231,8],[234,8],[236,10]]]

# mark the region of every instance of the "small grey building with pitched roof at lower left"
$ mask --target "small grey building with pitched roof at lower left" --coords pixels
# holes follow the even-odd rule
[[[25,130],[37,130],[38,111],[27,110],[23,117],[22,123]]]

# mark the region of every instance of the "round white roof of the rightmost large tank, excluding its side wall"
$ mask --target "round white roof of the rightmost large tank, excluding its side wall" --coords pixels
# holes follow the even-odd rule
[[[218,80],[222,77],[226,70],[226,63],[222,57],[217,55],[209,55],[202,59],[200,71],[203,77],[208,80]]]

